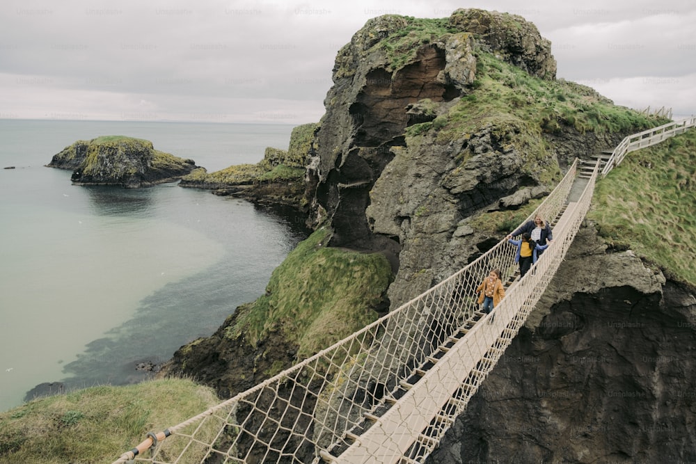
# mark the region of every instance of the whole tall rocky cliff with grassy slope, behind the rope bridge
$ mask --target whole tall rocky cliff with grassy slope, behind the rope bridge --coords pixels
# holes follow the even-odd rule
[[[308,167],[311,213],[335,227],[331,246],[398,256],[392,307],[497,239],[471,216],[539,198],[575,157],[635,128],[587,130],[582,115],[564,116],[612,105],[555,81],[555,69],[533,24],[475,9],[370,19],[338,52]],[[555,94],[568,95],[567,109]]]

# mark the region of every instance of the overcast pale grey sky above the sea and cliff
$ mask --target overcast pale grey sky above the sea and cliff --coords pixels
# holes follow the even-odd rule
[[[317,122],[367,19],[457,8],[525,17],[615,104],[696,114],[693,0],[3,0],[0,118]]]

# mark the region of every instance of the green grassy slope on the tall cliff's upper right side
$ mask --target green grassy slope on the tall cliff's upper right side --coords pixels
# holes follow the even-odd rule
[[[544,134],[561,135],[567,129],[579,134],[628,134],[669,122],[615,106],[590,87],[531,76],[482,50],[476,52],[476,58],[476,80],[470,93],[435,120],[408,127],[406,136],[430,133],[434,143],[447,145],[462,134],[475,134],[490,126],[491,141],[503,149],[507,145],[523,152],[531,173],[547,157]],[[464,161],[459,160],[460,164]],[[541,169],[539,178],[546,184],[555,184],[562,177],[557,166]]]

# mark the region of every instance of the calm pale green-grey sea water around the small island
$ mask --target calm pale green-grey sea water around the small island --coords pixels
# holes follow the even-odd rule
[[[209,172],[287,149],[290,125],[0,120],[0,410],[44,383],[123,385],[264,293],[302,218],[184,189],[73,186],[46,168],[125,135]],[[57,384],[56,384],[57,385]],[[54,385],[55,386],[55,385]],[[29,395],[29,396],[28,396]]]

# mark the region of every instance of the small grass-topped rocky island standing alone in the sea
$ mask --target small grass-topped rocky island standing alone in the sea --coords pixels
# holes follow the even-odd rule
[[[116,185],[129,189],[173,182],[198,168],[192,159],[155,150],[152,142],[126,136],[77,141],[55,154],[49,168],[72,170],[76,185]]]

